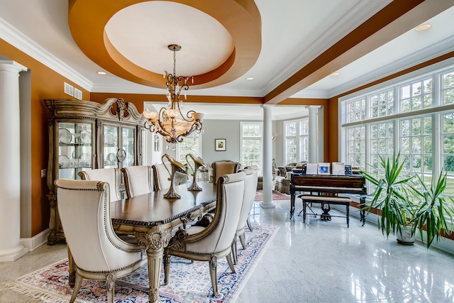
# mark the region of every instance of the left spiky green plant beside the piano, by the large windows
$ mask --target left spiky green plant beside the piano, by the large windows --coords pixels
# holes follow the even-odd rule
[[[405,160],[400,163],[400,153],[394,153],[392,159],[380,156],[379,165],[384,171],[380,176],[360,170],[361,175],[375,187],[374,192],[370,194],[372,199],[366,199],[362,210],[367,213],[377,210],[378,228],[387,238],[389,238],[389,233],[395,232],[403,234],[410,231],[414,234],[414,229],[411,228],[412,222],[408,219],[414,214],[414,205],[411,202],[413,193],[410,185],[410,181],[414,177],[402,178],[401,173]],[[374,168],[377,169],[377,167]]]

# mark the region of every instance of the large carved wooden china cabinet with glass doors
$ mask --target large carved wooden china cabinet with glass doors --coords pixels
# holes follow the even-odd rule
[[[133,104],[110,98],[99,104],[77,99],[45,99],[49,110],[48,245],[65,240],[57,212],[54,181],[80,179],[82,170],[142,165],[145,118]],[[124,191],[123,181],[120,191]]]

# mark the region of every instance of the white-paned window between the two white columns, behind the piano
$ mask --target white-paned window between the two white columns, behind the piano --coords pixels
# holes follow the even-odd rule
[[[309,120],[288,121],[285,128],[285,163],[307,161],[309,143]]]

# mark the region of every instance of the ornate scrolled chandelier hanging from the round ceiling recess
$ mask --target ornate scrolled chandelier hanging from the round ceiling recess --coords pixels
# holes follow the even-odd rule
[[[189,89],[187,81],[189,78],[192,78],[192,82],[194,83],[194,78],[177,76],[177,59],[175,53],[181,50],[182,47],[171,44],[168,48],[173,51],[173,74],[169,74],[166,70],[164,76],[167,78],[165,82],[165,86],[167,87],[165,96],[169,103],[167,107],[162,107],[159,113],[145,110],[143,111],[143,116],[147,119],[145,121],[145,128],[152,133],[156,131],[162,136],[165,136],[165,141],[168,143],[176,143],[182,142],[182,137],[189,136],[191,133],[201,132],[201,122],[204,114],[196,113],[195,111],[188,111],[186,114],[182,113],[183,101],[179,99],[179,95],[181,92],[184,92],[184,99],[186,99],[186,91]]]

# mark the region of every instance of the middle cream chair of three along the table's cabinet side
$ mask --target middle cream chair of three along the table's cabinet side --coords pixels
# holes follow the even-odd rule
[[[153,191],[151,181],[153,175],[150,165],[127,166],[121,169],[125,180],[126,195],[128,198],[139,194],[148,194]]]

